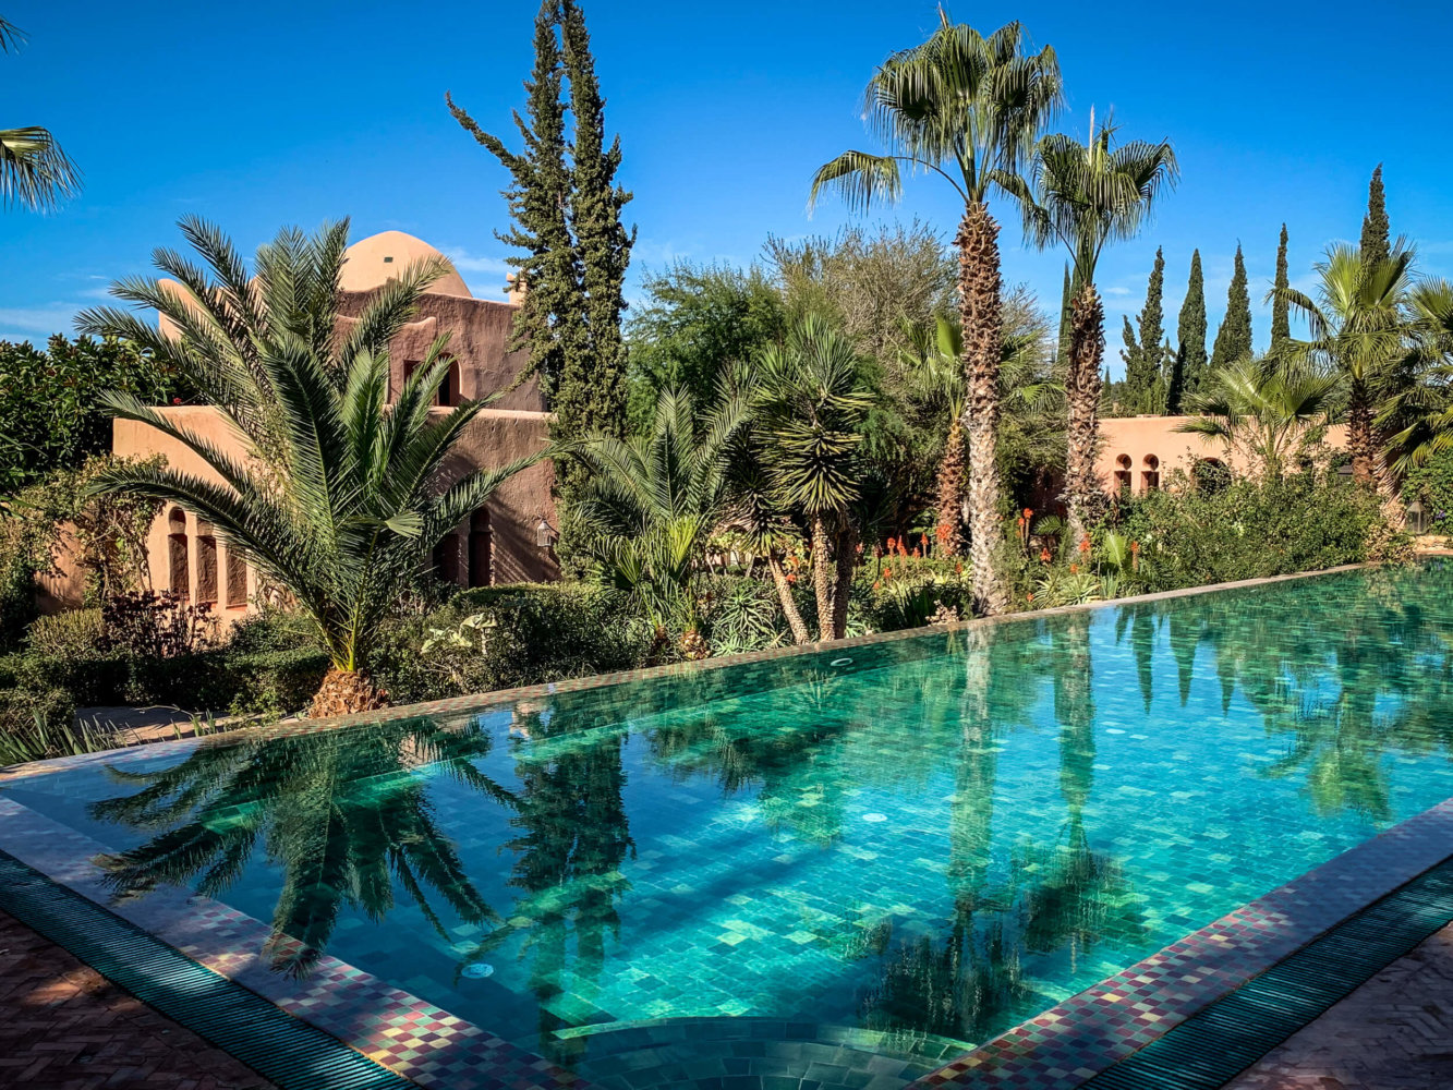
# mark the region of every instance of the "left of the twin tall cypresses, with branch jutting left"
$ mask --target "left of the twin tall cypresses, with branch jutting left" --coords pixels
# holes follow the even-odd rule
[[[527,291],[514,314],[509,347],[529,353],[516,385],[536,376],[546,404],[552,403],[564,374],[565,336],[577,328],[580,312],[580,276],[567,219],[571,177],[565,166],[558,23],[556,0],[543,0],[535,17],[535,67],[525,81],[525,116],[514,115],[525,144],[519,154],[445,96],[455,121],[510,173],[511,185],[501,192],[513,225],[509,231],[495,231],[495,237],[523,251],[507,260]]]

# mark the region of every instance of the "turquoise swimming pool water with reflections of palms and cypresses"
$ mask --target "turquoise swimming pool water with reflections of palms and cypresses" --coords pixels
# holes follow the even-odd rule
[[[4,794],[110,847],[118,894],[185,884],[302,940],[278,972],[327,950],[567,1064],[681,1017],[931,1057],[1449,798],[1450,744],[1434,561]]]

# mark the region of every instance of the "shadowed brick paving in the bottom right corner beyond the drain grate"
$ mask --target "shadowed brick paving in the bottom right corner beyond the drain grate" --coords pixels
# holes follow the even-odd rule
[[[1225,1090],[1453,1087],[1453,924],[1395,961]]]

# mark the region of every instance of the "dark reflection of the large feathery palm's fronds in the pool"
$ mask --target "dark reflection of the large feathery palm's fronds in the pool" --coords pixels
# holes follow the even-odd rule
[[[490,734],[475,722],[445,728],[418,718],[203,746],[160,772],[110,769],[141,789],[92,804],[92,817],[154,836],[97,862],[122,900],[161,884],[219,897],[260,846],[282,869],[266,953],[275,971],[295,977],[323,956],[341,908],[382,920],[395,879],[449,942],[430,889],[465,923],[497,917],[439,830],[420,767],[513,808],[514,796],[475,766],[488,750]]]

